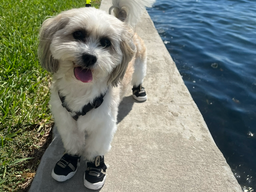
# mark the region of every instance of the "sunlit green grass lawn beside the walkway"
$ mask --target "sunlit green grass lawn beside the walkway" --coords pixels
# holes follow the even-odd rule
[[[0,192],[28,191],[50,142],[51,74],[37,60],[40,26],[46,16],[85,2],[0,1]],[[92,0],[92,6],[99,4]]]

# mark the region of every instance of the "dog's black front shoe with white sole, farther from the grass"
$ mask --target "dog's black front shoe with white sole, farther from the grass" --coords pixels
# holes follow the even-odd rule
[[[94,162],[87,162],[84,176],[85,187],[92,190],[102,188],[106,180],[106,169],[104,156],[97,156]]]

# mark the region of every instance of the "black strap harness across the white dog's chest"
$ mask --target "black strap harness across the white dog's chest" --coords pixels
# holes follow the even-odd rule
[[[108,91],[107,91],[108,92]],[[106,92],[106,93],[107,93]],[[86,105],[84,105],[82,112],[75,112],[75,115],[72,116],[72,118],[74,120],[78,120],[79,116],[84,116],[86,115],[87,112],[89,112],[90,110],[94,109],[94,108],[98,108],[102,103],[103,103],[103,97],[106,95],[106,93],[101,94],[100,96],[98,96],[97,98],[94,99],[93,104],[91,103],[87,103]],[[70,112],[70,114],[72,113],[72,110],[70,108],[68,108],[68,106],[65,104],[65,96],[61,96],[60,92],[58,91],[59,97],[61,99],[61,103],[62,103],[62,107],[66,108],[68,112]]]

